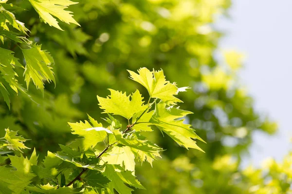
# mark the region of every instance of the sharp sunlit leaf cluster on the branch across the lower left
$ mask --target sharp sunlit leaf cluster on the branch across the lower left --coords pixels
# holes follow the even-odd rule
[[[78,138],[68,146],[60,145],[61,151],[48,151],[44,161],[37,165],[36,150],[30,159],[10,155],[27,148],[26,139],[17,132],[6,129],[0,148],[1,175],[0,191],[3,193],[109,193],[130,194],[131,187],[145,189],[135,179],[135,159],[152,162],[160,157],[163,149],[151,143],[141,131],[158,128],[169,135],[180,146],[200,149],[195,139],[201,140],[183,123],[184,116],[191,112],[176,106],[180,99],[174,97],[184,88],[165,80],[162,70],[152,72],[141,68],[138,73],[129,71],[134,81],[146,87],[149,93],[147,103],[139,90],[127,96],[110,90],[107,98],[98,97],[99,105],[109,117],[105,118],[109,127],[104,128],[91,116],[89,121],[69,123]],[[152,102],[153,100],[153,102]],[[159,102],[158,102],[159,101]],[[128,120],[123,130],[121,122],[113,117],[120,115]],[[103,150],[100,150],[103,147]]]

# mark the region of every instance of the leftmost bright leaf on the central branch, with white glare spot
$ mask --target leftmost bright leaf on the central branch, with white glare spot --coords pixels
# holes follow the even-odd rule
[[[105,129],[102,127],[102,124],[95,121],[93,118],[89,116],[89,119],[94,127],[88,121],[69,123],[71,129],[73,130],[73,134],[84,137],[82,139],[76,139],[71,147],[80,148],[82,151],[88,150],[90,147],[96,146],[98,142],[102,142],[108,133],[112,133],[109,129]]]

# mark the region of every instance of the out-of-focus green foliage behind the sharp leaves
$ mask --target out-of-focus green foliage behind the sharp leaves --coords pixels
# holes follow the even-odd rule
[[[253,132],[273,134],[277,125],[254,109],[252,97],[238,80],[242,54],[228,50],[219,53],[224,60],[215,57],[223,34],[214,22],[228,15],[230,0],[80,0],[66,10],[73,12],[81,27],[59,22],[64,31],[42,22],[28,1],[8,2],[30,31],[27,38],[54,58],[56,86],[45,82],[44,96],[33,86],[29,97],[12,93],[11,110],[0,96],[0,136],[5,128],[18,130],[31,139],[26,146],[36,147],[44,158],[48,150],[55,152],[58,144],[72,140],[67,122],[83,120],[86,113],[105,117],[96,95],[109,95],[108,88],[147,93],[128,79],[126,69],[162,68],[168,80],[192,88],[179,94],[184,102],[180,106],[194,113],[187,115],[186,122],[207,144],[198,142],[205,153],[185,150],[169,137],[156,135],[159,130],[145,132],[165,151],[153,168],[138,167],[136,176],[147,190],[135,193],[291,192],[291,154],[283,164],[268,162],[264,170],[239,168]],[[21,49],[14,44],[6,40],[0,47],[13,50],[22,63]],[[24,70],[16,67],[15,71],[19,84],[25,85]]]

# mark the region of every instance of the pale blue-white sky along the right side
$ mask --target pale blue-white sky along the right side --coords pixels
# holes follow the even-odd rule
[[[268,157],[281,161],[292,150],[291,8],[292,0],[233,0],[231,18],[220,18],[216,25],[226,33],[220,48],[246,55],[240,78],[256,109],[279,124],[274,136],[254,134],[244,166],[258,166]]]

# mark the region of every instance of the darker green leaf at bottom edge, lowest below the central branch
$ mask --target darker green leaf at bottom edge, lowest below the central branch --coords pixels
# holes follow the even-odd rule
[[[110,194],[114,194],[114,189],[119,194],[131,194],[133,190],[125,184],[144,189],[144,187],[135,179],[130,171],[125,172],[122,168],[119,168],[119,166],[106,164],[106,169],[103,174],[111,180],[108,186],[108,192]]]

